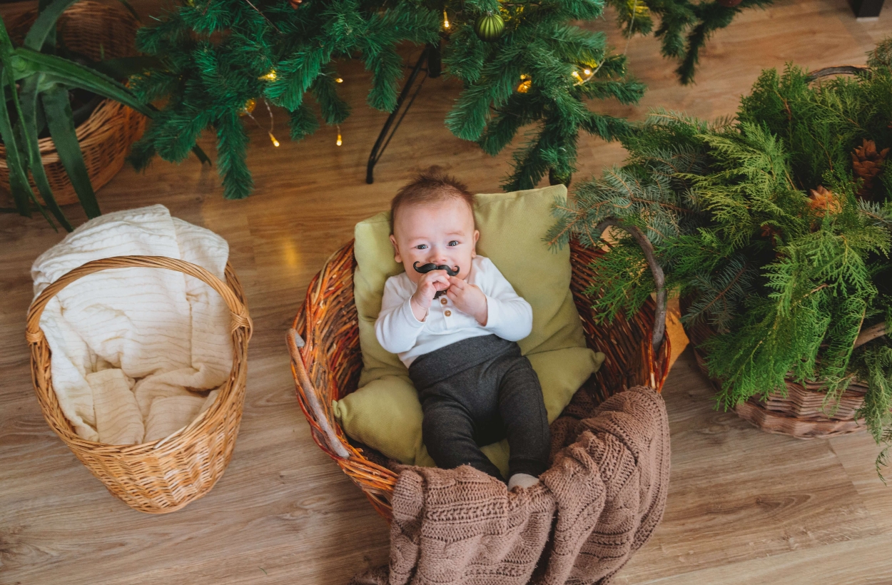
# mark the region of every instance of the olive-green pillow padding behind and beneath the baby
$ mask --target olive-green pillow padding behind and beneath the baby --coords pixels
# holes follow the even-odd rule
[[[551,205],[556,198],[566,199],[564,185],[475,197],[480,230],[477,253],[492,260],[533,307],[533,333],[518,344],[539,375],[549,422],[604,360],[604,354],[585,346],[582,321],[570,292],[569,248],[551,251],[542,241],[554,223]],[[335,402],[335,417],[345,433],[385,456],[407,465],[433,466],[422,443],[421,404],[409,373],[400,358],[385,351],[375,337],[384,283],[403,271],[393,260],[389,235],[389,212],[356,225],[353,296],[363,368],[359,390]],[[483,452],[504,474],[508,446],[502,443],[488,445]]]

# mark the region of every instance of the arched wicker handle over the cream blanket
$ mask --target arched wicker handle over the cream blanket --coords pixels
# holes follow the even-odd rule
[[[182,272],[187,276],[194,276],[217,291],[223,297],[223,301],[226,301],[229,313],[232,316],[231,330],[235,331],[243,327],[246,329],[248,337],[251,337],[253,324],[244,302],[238,298],[226,283],[211,274],[211,271],[191,262],[186,262],[186,260],[177,260],[165,256],[115,256],[87,262],[62,275],[54,283],[47,286],[28,309],[28,326],[25,329],[25,339],[32,344],[44,340],[44,332],[40,329],[40,316],[44,313],[46,303],[52,300],[59,291],[78,280],[78,278],[111,268],[166,268]]]

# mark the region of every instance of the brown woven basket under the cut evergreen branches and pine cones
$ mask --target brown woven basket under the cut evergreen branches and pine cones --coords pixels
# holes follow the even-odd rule
[[[682,300],[682,314],[687,310],[686,302]],[[704,375],[709,377],[706,369],[706,352],[699,348],[709,337],[715,334],[715,330],[706,323],[699,322],[696,325],[685,325],[690,344],[694,348],[698,366]],[[722,387],[720,380],[710,378],[715,390]],[[855,411],[861,408],[864,402],[864,393],[867,386],[855,382],[849,384],[847,391],[839,397],[838,405],[829,402],[824,406],[827,394],[822,391],[820,383],[797,383],[792,378],[786,380],[787,395],[783,396],[779,391],[773,391],[767,400],[752,397],[739,404],[734,410],[737,414],[756,425],[767,433],[788,434],[798,439],[813,439],[815,437],[832,437],[840,434],[856,433],[863,431],[863,419],[855,420]],[[832,416],[828,416],[831,413]]]

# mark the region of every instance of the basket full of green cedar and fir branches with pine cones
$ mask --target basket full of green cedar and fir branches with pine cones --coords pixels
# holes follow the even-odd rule
[[[610,247],[591,282],[601,318],[680,293],[723,406],[773,433],[866,428],[888,447],[892,39],[867,67],[764,71],[736,119],[654,112],[624,146],[551,234]]]

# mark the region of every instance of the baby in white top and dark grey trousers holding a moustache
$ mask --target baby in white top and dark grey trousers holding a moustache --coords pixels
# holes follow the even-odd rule
[[[550,444],[539,378],[516,344],[533,328],[533,309],[477,255],[473,202],[465,185],[437,173],[393,198],[390,238],[406,271],[387,279],[375,333],[409,368],[437,466],[502,479],[479,446],[507,436],[508,490],[526,488],[547,468]],[[436,269],[422,274],[434,268],[425,264]]]

